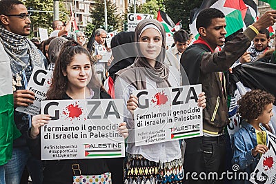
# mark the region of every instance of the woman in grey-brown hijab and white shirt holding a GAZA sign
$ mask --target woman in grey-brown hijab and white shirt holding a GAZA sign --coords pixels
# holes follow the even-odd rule
[[[130,130],[126,147],[125,183],[181,183],[183,168],[179,141],[135,146],[133,110],[138,107],[134,90],[179,86],[179,72],[170,72],[163,64],[166,34],[163,25],[154,19],[138,23],[135,42],[139,56],[129,68],[117,72],[115,97],[124,99],[124,119]],[[204,93],[199,105],[205,107]]]

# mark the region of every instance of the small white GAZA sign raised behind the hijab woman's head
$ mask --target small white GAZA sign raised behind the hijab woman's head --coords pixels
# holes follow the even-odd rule
[[[153,19],[153,14],[128,13],[128,31],[135,31],[136,25],[144,19]]]

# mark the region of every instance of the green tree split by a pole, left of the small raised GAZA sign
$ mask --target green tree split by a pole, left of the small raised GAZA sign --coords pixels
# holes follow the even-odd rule
[[[122,19],[117,14],[117,7],[112,1],[106,1],[107,15],[108,15],[108,28],[112,27],[113,30],[122,30]],[[92,21],[86,26],[86,35],[90,35],[93,29],[103,28],[104,29],[104,1],[96,0],[95,6],[90,8],[90,17]]]

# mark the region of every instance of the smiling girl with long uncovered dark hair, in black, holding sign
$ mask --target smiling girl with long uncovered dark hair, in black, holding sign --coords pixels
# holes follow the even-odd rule
[[[48,90],[47,99],[110,99],[110,96],[97,81],[89,52],[76,41],[67,41],[63,45],[55,65],[52,85]],[[36,150],[40,150],[39,133],[41,126],[46,125],[49,120],[50,116],[46,114],[40,114],[32,118],[29,135],[30,141],[33,141],[32,147],[34,148],[36,145]],[[119,124],[118,131],[126,138],[128,136],[126,123]],[[72,164],[75,163],[79,164],[81,174],[96,175],[110,172],[111,168],[108,167],[110,166],[108,165],[110,160],[113,163],[117,160],[118,165],[123,162],[123,159],[45,161],[43,183],[72,183]],[[119,170],[119,167],[115,166],[115,169]],[[112,176],[113,183],[121,183],[118,178],[120,176],[116,176],[116,178]]]

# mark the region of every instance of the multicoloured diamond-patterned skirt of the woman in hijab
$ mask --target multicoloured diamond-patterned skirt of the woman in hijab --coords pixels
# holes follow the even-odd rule
[[[182,183],[183,178],[181,159],[156,163],[141,155],[127,154],[124,167],[125,184]]]

